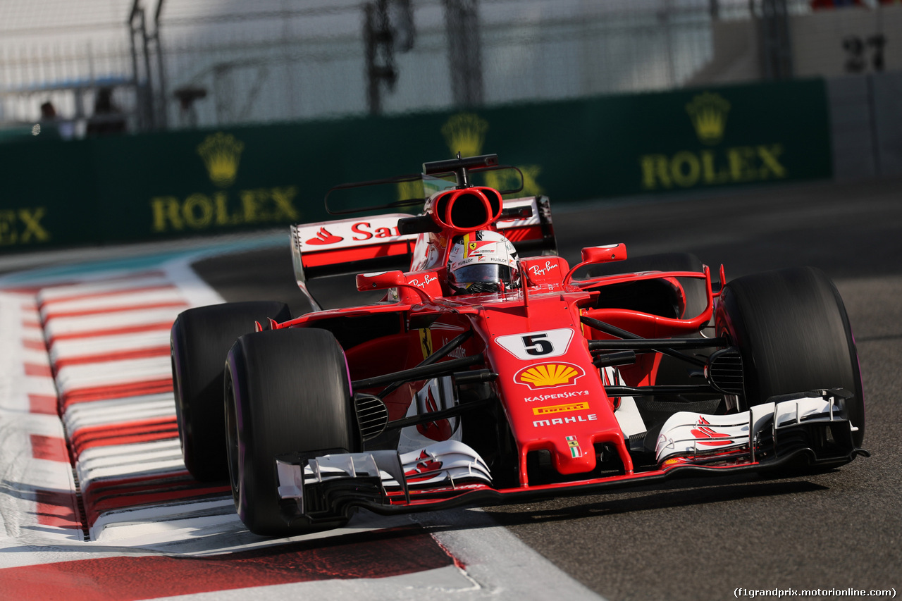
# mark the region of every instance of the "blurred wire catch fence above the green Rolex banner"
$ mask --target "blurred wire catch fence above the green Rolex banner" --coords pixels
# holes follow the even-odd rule
[[[880,18],[875,2],[866,10]],[[55,116],[45,115],[45,125],[80,137],[92,131],[92,119],[124,119],[128,131],[226,127],[788,79],[798,73],[789,23],[817,4],[4,3],[0,122],[33,127],[49,102]],[[737,51],[743,36],[748,44]],[[879,45],[869,36],[859,43],[865,61]],[[108,107],[98,104],[105,93]]]

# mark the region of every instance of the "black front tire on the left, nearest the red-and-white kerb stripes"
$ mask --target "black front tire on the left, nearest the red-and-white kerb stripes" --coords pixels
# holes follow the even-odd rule
[[[344,525],[349,515],[327,510],[310,522],[295,501],[282,501],[275,457],[357,452],[355,424],[345,353],[331,332],[294,328],[239,337],[226,365],[226,430],[232,495],[244,525],[263,536]]]

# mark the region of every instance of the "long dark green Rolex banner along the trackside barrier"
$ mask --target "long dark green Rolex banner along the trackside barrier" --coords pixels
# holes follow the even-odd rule
[[[326,220],[335,218],[323,207],[331,186],[417,173],[458,152],[497,153],[522,172],[523,195],[547,194],[552,206],[832,175],[819,79],[14,142],[0,144],[0,250]],[[490,183],[513,180],[498,172]],[[411,192],[390,190],[393,199]],[[370,193],[348,206],[375,204]]]

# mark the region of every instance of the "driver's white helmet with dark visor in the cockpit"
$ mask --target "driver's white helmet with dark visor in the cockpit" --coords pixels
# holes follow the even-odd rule
[[[448,284],[457,294],[500,292],[520,287],[517,251],[489,230],[455,236],[448,254]]]

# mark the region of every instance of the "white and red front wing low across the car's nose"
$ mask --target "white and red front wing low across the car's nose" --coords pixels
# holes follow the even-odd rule
[[[731,415],[681,411],[662,426],[657,467],[648,471],[565,483],[495,488],[482,458],[446,440],[410,453],[287,454],[276,458],[287,521],[334,519],[364,507],[374,513],[434,511],[465,504],[497,504],[537,497],[585,495],[674,476],[718,476],[802,465],[838,467],[868,452],[855,448],[845,417],[847,391],[783,395]]]

